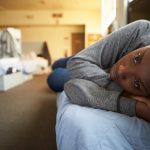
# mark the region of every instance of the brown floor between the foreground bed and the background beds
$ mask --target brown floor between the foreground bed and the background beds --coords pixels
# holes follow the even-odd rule
[[[56,150],[56,94],[46,79],[0,92],[0,150]]]

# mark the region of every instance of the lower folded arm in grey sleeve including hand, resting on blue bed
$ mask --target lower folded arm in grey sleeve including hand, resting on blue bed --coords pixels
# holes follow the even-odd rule
[[[138,116],[150,122],[149,98],[106,90],[84,79],[67,82],[65,93],[71,103]]]

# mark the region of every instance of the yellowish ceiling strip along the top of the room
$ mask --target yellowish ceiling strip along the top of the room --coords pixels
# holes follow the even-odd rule
[[[99,10],[100,0],[0,0],[0,10]]]

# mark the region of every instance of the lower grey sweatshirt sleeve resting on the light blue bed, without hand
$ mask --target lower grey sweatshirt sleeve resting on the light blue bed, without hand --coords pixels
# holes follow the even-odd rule
[[[65,84],[65,93],[73,104],[89,106],[135,116],[135,100],[121,96],[121,92],[106,90],[94,82],[73,79]]]

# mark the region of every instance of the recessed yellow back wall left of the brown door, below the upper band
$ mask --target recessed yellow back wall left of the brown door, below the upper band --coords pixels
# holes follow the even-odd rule
[[[52,56],[52,61],[65,54],[71,55],[71,34],[84,32],[84,26],[31,26],[21,27],[22,40],[25,42],[46,41]],[[31,36],[32,35],[32,36]]]

